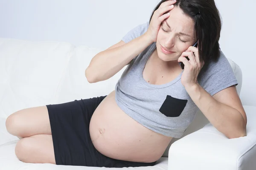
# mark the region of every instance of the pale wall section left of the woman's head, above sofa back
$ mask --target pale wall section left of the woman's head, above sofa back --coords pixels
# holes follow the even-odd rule
[[[108,48],[158,0],[0,0],[0,36]],[[143,9],[143,10],[141,10]]]

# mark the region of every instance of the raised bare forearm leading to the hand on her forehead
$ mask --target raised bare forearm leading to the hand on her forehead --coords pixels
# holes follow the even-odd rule
[[[143,34],[124,45],[100,52],[91,60],[86,76],[93,82],[111,78],[151,43],[148,36]]]

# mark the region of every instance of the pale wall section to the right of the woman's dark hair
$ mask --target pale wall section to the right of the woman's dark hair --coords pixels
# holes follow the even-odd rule
[[[226,57],[243,73],[240,98],[243,105],[256,106],[256,14],[255,0],[215,0],[223,26],[220,45]]]

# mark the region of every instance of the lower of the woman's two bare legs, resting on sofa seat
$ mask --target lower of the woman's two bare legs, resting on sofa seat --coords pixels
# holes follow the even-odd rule
[[[15,154],[26,163],[56,164],[52,135],[34,135],[20,139],[15,147]]]

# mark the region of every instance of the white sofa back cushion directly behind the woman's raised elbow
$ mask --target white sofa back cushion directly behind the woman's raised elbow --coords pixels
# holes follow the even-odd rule
[[[103,50],[85,45],[75,48],[63,80],[60,82],[56,103],[105,96],[115,89],[116,82],[127,66],[105,81],[89,83],[85,77],[85,69],[89,66],[91,59],[100,51]]]

